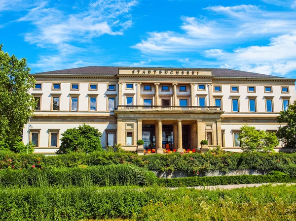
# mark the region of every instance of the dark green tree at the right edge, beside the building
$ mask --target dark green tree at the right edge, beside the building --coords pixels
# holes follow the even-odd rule
[[[287,124],[280,126],[277,136],[287,147],[296,147],[296,101],[288,106],[288,109],[280,112],[277,118],[278,123]]]

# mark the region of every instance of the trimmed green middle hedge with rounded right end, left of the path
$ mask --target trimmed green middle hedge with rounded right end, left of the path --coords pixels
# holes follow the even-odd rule
[[[49,186],[128,186],[152,185],[156,176],[145,168],[130,165],[92,166],[51,170],[23,169],[0,171],[3,187]]]

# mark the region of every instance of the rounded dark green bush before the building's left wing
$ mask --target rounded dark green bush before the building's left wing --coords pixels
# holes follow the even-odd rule
[[[78,128],[67,129],[62,136],[62,143],[57,154],[103,151],[100,140],[102,133],[93,126],[79,125]]]

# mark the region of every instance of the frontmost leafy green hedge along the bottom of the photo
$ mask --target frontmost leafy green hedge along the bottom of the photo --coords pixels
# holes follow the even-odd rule
[[[135,189],[130,187],[0,189],[0,220],[78,221],[116,218],[160,220],[154,216],[149,217],[149,214],[154,213],[153,207],[163,208],[166,213],[171,213],[167,207],[172,205],[176,209],[180,206],[186,213],[196,213],[200,208],[209,208],[208,206],[212,203],[215,203],[216,208],[220,208],[219,211],[229,209],[237,211],[238,214],[242,208],[250,208],[254,210],[254,213],[256,208],[264,208],[264,217],[268,215],[265,206],[273,207],[275,205],[273,203],[278,203],[287,209],[280,211],[282,215],[288,215],[295,212],[293,208],[296,203],[296,186],[263,186],[231,190]],[[249,205],[252,206],[249,207]],[[148,211],[145,210],[147,206],[150,206]],[[238,210],[233,210],[233,208]],[[273,207],[273,211],[277,211],[277,207]],[[249,216],[254,216],[253,212]],[[146,215],[142,217],[141,214]],[[293,217],[290,218],[293,220]],[[174,220],[185,219],[180,217]],[[189,220],[194,220],[194,217]],[[212,217],[208,220],[223,219]]]

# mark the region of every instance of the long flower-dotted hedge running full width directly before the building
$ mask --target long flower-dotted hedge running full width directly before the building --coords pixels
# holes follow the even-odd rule
[[[0,152],[0,169],[14,168],[62,168],[80,165],[132,164],[148,170],[182,170],[200,174],[206,171],[259,169],[266,172],[278,170],[296,176],[296,153],[227,153],[214,154],[151,154],[138,156],[134,153],[99,152],[90,154],[65,154],[44,156]]]

